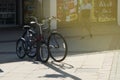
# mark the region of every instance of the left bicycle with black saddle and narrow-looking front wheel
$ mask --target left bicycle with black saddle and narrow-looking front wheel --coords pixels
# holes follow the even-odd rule
[[[47,62],[49,59],[49,54],[48,52],[44,52],[44,50],[48,51],[48,49],[47,43],[42,34],[41,29],[42,24],[38,23],[36,17],[31,16],[30,18],[33,18],[33,21],[30,21],[30,25],[24,26],[25,32],[23,33],[22,37],[20,37],[17,40],[16,43],[17,56],[21,59],[24,58],[25,55],[28,55],[29,57],[33,58],[39,52],[42,53],[41,55],[42,57],[39,57],[39,59],[42,62]],[[32,49],[34,49],[34,51],[32,51]]]

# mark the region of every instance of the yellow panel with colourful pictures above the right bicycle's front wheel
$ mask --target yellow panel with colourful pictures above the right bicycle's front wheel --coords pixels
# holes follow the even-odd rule
[[[57,0],[57,17],[66,22],[76,20],[77,0]]]

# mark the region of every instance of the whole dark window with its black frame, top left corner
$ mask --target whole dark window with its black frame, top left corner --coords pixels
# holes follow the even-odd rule
[[[0,0],[0,27],[21,25],[23,16],[21,7],[21,0]]]

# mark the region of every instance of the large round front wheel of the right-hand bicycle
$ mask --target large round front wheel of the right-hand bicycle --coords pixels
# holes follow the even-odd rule
[[[59,33],[51,33],[48,38],[48,51],[51,58],[56,62],[63,61],[67,56],[67,43]]]

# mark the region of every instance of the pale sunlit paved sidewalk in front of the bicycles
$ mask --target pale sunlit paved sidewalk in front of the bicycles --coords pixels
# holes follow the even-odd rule
[[[61,63],[49,60],[47,64],[20,60],[14,53],[0,54],[0,80],[109,80],[114,55],[119,52],[68,55]]]

